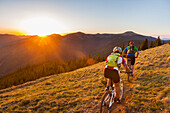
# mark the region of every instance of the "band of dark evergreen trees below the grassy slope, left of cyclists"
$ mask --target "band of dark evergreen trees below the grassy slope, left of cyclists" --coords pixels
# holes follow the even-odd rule
[[[98,56],[94,58],[91,56],[91,54],[89,54],[87,58],[72,58],[68,61],[47,61],[39,64],[27,65],[26,67],[23,67],[16,72],[1,77],[0,89],[20,85],[25,82],[36,80],[38,78],[53,74],[73,71],[78,68],[104,61],[105,59],[106,56],[100,56],[100,53],[98,53]]]

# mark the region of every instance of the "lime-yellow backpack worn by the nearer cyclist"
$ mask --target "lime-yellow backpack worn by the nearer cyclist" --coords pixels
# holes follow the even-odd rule
[[[107,66],[118,67],[118,58],[120,57],[119,53],[111,53],[108,57]]]

